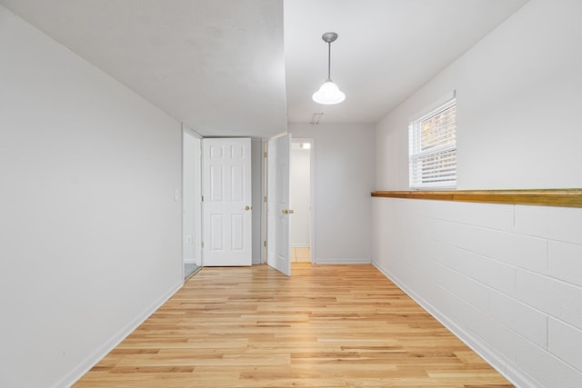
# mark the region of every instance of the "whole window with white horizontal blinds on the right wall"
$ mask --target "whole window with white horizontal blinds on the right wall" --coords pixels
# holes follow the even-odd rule
[[[447,101],[410,123],[410,188],[457,186],[457,100]]]

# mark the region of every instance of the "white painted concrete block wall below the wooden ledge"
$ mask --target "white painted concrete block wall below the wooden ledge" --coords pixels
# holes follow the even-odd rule
[[[582,387],[582,209],[373,202],[381,271],[517,386]]]

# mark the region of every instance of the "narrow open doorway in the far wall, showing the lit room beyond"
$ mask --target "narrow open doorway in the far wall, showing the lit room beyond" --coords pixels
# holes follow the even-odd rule
[[[289,244],[291,262],[311,262],[315,257],[313,227],[313,153],[314,139],[297,138],[291,141],[289,168]]]

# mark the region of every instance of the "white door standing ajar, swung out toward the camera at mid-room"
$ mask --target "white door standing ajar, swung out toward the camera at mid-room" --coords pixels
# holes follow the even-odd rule
[[[271,139],[267,145],[267,254],[266,263],[289,276],[289,154],[291,135]]]

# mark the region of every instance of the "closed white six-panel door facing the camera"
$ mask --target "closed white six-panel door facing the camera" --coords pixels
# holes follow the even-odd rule
[[[251,139],[204,139],[204,265],[251,265]]]

